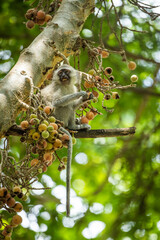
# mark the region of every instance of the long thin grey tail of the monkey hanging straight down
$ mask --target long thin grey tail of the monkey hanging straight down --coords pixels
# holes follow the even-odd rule
[[[70,133],[63,127],[60,130],[69,136],[68,157],[67,157],[67,173],[66,173],[66,214],[70,215],[70,188],[71,188],[71,161],[72,161],[72,137]]]

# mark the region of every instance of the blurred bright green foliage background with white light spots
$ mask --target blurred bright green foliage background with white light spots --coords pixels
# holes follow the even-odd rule
[[[16,63],[20,52],[40,33],[38,26],[33,30],[25,27],[24,14],[30,3],[1,0],[1,79]],[[65,170],[59,172],[56,161],[34,185],[51,190],[32,191],[20,213],[22,227],[14,230],[13,239],[160,239],[160,17],[152,21],[148,14],[126,0],[114,3],[121,24],[126,27],[121,35],[123,49],[127,59],[137,63],[137,68],[130,71],[120,54],[114,53],[121,50],[113,33],[116,31],[120,37],[120,27],[113,8],[109,20],[105,14],[111,1],[106,4],[96,1],[95,12],[85,22],[81,36],[95,42],[95,46],[103,40],[104,46],[113,51],[103,60],[103,66],[113,68],[120,84],[130,84],[132,74],[139,80],[136,89],[118,90],[120,99],[106,102],[114,106],[112,114],[102,109],[100,97],[94,106],[103,115],[90,124],[92,129],[136,126],[136,134],[77,139],[71,172],[71,218],[65,216]],[[159,8],[154,11],[160,12]],[[76,66],[77,63],[78,59]],[[87,72],[90,67],[88,52],[82,50],[80,69]],[[11,138],[11,151],[18,158],[24,155],[19,138]]]

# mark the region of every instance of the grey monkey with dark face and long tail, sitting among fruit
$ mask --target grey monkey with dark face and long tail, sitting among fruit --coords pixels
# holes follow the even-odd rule
[[[67,174],[66,174],[66,213],[70,215],[70,167],[72,160],[72,137],[66,130],[89,130],[88,124],[76,122],[75,111],[83,103],[93,99],[93,94],[85,91],[78,92],[75,86],[80,81],[80,74],[73,67],[64,64],[54,71],[52,83],[42,89],[41,94],[47,105],[54,108],[56,119],[64,123],[60,130],[69,136]]]

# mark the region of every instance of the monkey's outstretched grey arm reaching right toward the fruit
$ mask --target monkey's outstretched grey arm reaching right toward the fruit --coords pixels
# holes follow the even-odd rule
[[[69,105],[70,103],[72,103],[74,100],[77,100],[79,97],[86,99],[88,97],[88,94],[85,91],[68,94],[62,98],[59,98],[59,99],[56,99],[55,101],[53,101],[52,105],[55,107],[66,106],[66,105]]]

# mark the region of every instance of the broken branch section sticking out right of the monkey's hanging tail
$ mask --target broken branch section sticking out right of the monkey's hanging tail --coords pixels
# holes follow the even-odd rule
[[[114,128],[114,129],[96,129],[90,131],[79,131],[74,134],[75,138],[101,138],[101,137],[120,137],[135,134],[136,128]]]

